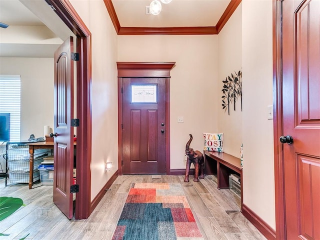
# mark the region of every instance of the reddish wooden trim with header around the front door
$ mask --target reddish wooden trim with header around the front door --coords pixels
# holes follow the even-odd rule
[[[170,174],[170,70],[175,62],[116,62],[118,71],[118,171],[122,175],[122,77],[165,77],[165,173]]]

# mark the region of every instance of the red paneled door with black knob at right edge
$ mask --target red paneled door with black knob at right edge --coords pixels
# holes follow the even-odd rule
[[[287,239],[320,239],[320,1],[284,0],[282,74]]]

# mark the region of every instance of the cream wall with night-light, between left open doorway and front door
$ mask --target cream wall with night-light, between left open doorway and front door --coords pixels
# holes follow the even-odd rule
[[[102,0],[71,0],[91,32],[91,200],[117,170],[117,35]],[[104,163],[113,162],[104,172]]]

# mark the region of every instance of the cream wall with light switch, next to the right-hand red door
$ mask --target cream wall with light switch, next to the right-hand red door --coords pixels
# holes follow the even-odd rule
[[[242,0],[243,203],[275,229],[272,1]]]

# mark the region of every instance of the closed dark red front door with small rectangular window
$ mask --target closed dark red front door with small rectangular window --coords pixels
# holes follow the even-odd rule
[[[122,78],[122,173],[165,173],[165,78]]]

